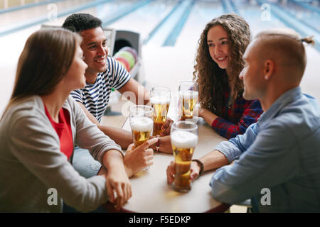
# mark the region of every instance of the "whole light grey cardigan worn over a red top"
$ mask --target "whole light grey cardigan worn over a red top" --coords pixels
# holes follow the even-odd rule
[[[71,96],[63,108],[70,113],[74,144],[99,162],[107,150],[122,152]],[[58,192],[58,204],[50,188]],[[60,152],[41,97],[31,96],[11,106],[0,122],[0,212],[60,212],[62,198],[79,211],[96,209],[107,201],[105,177],[85,179],[75,171]]]

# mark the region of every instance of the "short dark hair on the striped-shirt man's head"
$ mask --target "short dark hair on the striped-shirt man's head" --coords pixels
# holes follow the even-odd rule
[[[97,27],[102,28],[102,21],[88,13],[73,13],[63,23],[63,28],[76,33]]]

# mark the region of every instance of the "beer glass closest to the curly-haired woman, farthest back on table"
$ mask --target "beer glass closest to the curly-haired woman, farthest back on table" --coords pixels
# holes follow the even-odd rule
[[[199,85],[193,81],[181,81],[179,84],[179,102],[181,121],[193,118],[193,108],[198,104]]]

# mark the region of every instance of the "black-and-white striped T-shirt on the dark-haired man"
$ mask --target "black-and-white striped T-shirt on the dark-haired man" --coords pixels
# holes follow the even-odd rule
[[[130,78],[129,72],[117,60],[107,57],[107,70],[97,74],[95,84],[86,84],[85,88],[71,92],[71,96],[100,122],[107,109],[111,89],[122,88]]]

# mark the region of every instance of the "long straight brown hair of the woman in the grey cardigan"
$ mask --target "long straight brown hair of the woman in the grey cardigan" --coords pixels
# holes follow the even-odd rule
[[[68,72],[81,40],[80,35],[62,28],[43,28],[31,34],[19,57],[14,90],[4,114],[18,100],[53,92]]]

